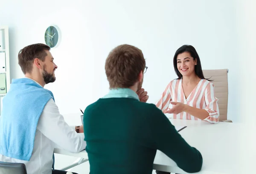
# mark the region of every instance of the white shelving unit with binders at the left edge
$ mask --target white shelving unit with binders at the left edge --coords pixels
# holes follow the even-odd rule
[[[9,91],[10,84],[9,28],[0,26],[0,111],[3,97]]]

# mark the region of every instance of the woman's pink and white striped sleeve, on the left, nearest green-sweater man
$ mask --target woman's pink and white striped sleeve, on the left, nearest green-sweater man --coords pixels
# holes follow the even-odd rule
[[[163,91],[161,98],[156,102],[156,106],[160,110],[166,110],[169,107],[171,101],[171,83],[167,85],[166,89]]]

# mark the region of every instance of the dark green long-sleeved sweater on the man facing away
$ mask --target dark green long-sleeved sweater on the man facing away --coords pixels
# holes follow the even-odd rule
[[[154,104],[99,99],[84,111],[90,174],[152,174],[157,149],[186,172],[201,170],[200,152],[187,144]]]

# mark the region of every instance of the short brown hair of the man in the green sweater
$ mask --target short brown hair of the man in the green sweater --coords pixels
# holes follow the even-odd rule
[[[145,59],[140,49],[131,45],[119,45],[108,55],[105,71],[110,88],[128,88],[137,81],[145,69]]]

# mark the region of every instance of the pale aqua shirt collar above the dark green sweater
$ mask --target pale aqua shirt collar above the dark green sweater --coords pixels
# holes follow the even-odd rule
[[[117,88],[109,90],[109,93],[103,97],[103,99],[108,98],[133,98],[140,101],[139,96],[133,90],[129,88]]]

